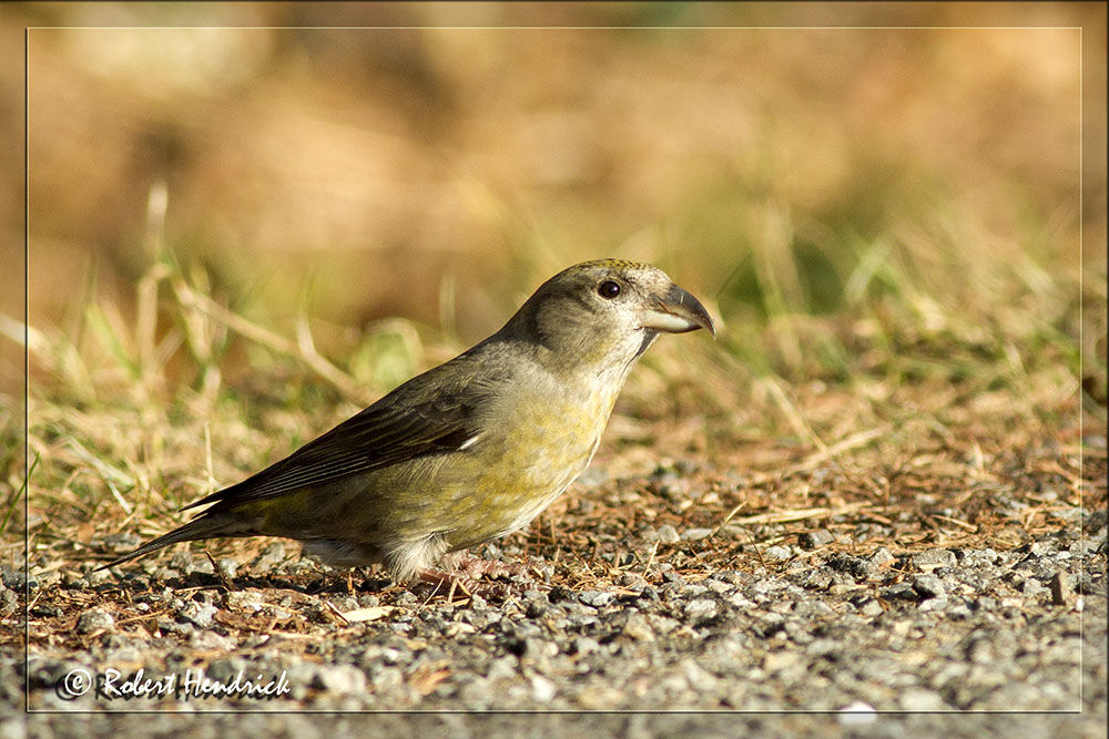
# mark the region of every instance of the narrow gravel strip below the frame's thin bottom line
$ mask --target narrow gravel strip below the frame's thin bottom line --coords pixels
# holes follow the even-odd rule
[[[83,714],[0,722],[2,737],[1103,737],[1105,721],[1074,714],[879,714],[859,720],[824,714]]]

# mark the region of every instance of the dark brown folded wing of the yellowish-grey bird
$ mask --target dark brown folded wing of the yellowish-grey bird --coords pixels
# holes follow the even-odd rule
[[[423,382],[397,388],[284,460],[185,509],[215,503],[204,513],[218,512],[468,447],[481,430],[477,411],[485,383],[465,377],[439,380],[446,374],[420,376]]]

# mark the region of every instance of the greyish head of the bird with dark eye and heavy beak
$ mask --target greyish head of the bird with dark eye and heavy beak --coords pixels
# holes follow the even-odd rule
[[[704,306],[661,269],[598,259],[543,283],[502,332],[526,338],[568,365],[604,368],[630,363],[661,331],[699,328],[716,335]]]

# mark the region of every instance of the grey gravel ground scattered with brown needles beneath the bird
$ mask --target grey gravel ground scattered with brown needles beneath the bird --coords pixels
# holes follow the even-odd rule
[[[546,587],[549,564],[533,557],[528,576],[486,585],[507,595],[459,591],[449,603],[430,584],[407,589],[372,578],[356,579],[352,595],[342,574],[328,576],[279,543],[241,569],[231,560],[182,552],[122,578],[32,579],[28,671],[9,655],[2,704],[23,702],[26,679],[32,711],[830,711],[566,715],[541,725],[618,736],[676,733],[691,722],[721,735],[970,736],[1011,726],[1022,736],[1102,736],[1105,512],[1087,515],[1082,528],[1006,552],[899,556],[885,548],[866,556],[828,551],[822,547],[831,533],[815,530],[762,550],[764,564],[751,569],[680,574],[662,563],[576,592]],[[10,569],[2,575],[0,605],[8,607],[23,579]],[[74,610],[85,601],[128,607]],[[77,614],[70,628],[35,638],[37,623],[69,613]],[[139,670],[145,682],[133,679]],[[69,695],[81,692],[84,676],[110,684]],[[202,678],[230,685],[232,695],[197,697],[196,686],[215,686]],[[170,680],[172,689],[160,692]],[[281,695],[248,695],[245,680]],[[145,685],[144,694],[128,695],[136,685]],[[1075,714],[952,722],[942,711]],[[419,720],[428,728],[516,732],[525,718]],[[356,719],[335,720],[353,727]],[[216,731],[232,720],[238,730],[267,733],[281,732],[277,720],[298,736],[332,730],[295,716],[213,716],[196,729]],[[410,726],[397,716],[373,720],[383,729]],[[63,733],[70,721],[61,714],[32,715],[29,723],[10,718],[0,737]],[[143,721],[147,730],[174,723],[167,716]],[[98,732],[129,726],[126,717],[108,715],[87,715],[81,723]]]

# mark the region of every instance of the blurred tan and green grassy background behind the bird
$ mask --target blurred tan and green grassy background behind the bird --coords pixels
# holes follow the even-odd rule
[[[995,393],[1052,428],[1081,397],[1105,422],[1103,6],[26,3],[0,23],[41,27],[27,324],[44,505],[93,515],[68,494],[82,468],[116,499],[233,482],[599,256],[659,265],[725,327],[660,342],[633,417],[701,409],[721,439],[812,422],[831,442],[856,408],[798,421],[780,392],[820,383],[879,418],[912,413],[876,406],[907,390]],[[546,24],[622,28],[492,28]],[[1029,28],[781,28],[804,24]],[[3,47],[7,252],[22,167]],[[212,429],[223,460],[197,456]]]

